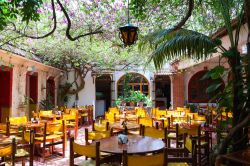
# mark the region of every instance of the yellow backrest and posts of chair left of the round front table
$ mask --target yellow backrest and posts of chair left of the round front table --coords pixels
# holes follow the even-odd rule
[[[95,158],[96,166],[100,166],[100,142],[95,145],[81,145],[70,138],[70,166],[74,166],[75,154]]]

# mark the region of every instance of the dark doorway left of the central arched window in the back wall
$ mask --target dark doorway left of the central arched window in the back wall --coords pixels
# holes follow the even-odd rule
[[[103,116],[105,111],[111,106],[111,77],[110,75],[100,75],[96,77],[96,105],[95,116]]]

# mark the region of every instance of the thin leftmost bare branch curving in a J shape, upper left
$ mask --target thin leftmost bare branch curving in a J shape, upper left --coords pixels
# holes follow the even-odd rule
[[[43,35],[43,36],[30,36],[30,35],[27,35],[27,34],[22,33],[22,32],[19,31],[19,30],[16,30],[15,26],[14,26],[14,28],[15,28],[14,31],[17,32],[18,34],[22,35],[22,37],[27,37],[27,38],[31,38],[31,39],[43,39],[43,38],[46,38],[46,37],[52,35],[52,34],[55,32],[56,26],[57,26],[57,25],[56,25],[56,24],[57,24],[57,21],[56,21],[56,11],[55,11],[55,3],[54,3],[54,0],[51,0],[51,5],[52,5],[52,9],[53,9],[54,27],[53,27],[53,29],[52,29],[49,33],[47,33],[47,34],[45,34],[45,35]]]

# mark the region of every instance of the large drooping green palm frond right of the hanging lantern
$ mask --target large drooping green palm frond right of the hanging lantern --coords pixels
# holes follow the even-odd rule
[[[193,58],[204,59],[216,51],[216,44],[206,35],[180,29],[178,31],[161,30],[147,35],[140,43],[141,49],[146,46],[153,49],[149,61],[154,61],[160,69],[166,60]]]

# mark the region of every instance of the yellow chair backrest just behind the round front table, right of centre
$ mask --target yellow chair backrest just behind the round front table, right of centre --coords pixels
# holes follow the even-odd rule
[[[164,128],[163,130],[156,129],[154,127],[142,127],[142,136],[148,136],[153,138],[161,138],[163,140],[166,140],[167,138],[167,128]]]

